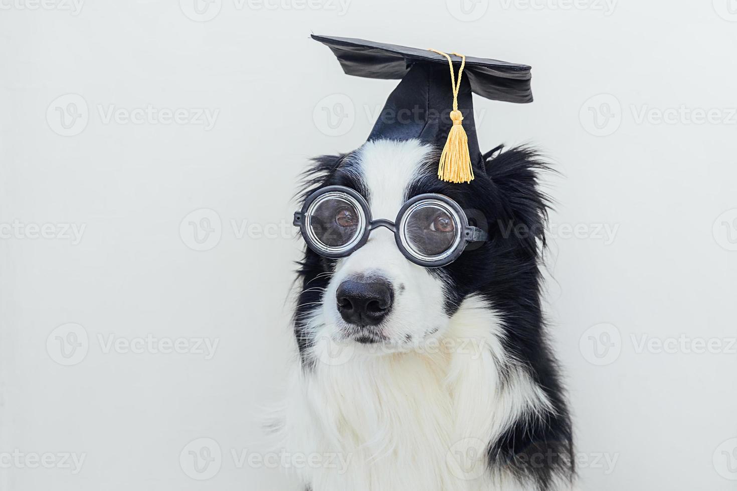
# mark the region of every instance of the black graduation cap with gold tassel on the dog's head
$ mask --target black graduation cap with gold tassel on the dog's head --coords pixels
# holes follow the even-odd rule
[[[363,39],[318,35],[312,39],[332,50],[346,74],[402,80],[387,99],[368,140],[419,138],[444,145],[439,169],[443,180],[467,182],[473,179],[472,166],[483,169],[471,93],[497,101],[532,102],[531,67],[527,65]],[[455,102],[460,113],[452,115]]]

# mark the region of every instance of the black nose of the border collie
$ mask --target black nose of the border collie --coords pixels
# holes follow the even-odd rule
[[[335,294],[338,311],[346,322],[377,325],[391,311],[394,292],[382,280],[345,280]]]

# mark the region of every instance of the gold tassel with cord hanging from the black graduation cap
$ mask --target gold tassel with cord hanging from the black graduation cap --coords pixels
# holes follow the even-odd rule
[[[453,126],[450,127],[448,139],[445,142],[443,153],[440,155],[438,166],[438,179],[448,183],[470,183],[473,180],[473,169],[471,166],[471,155],[468,151],[468,136],[463,129],[463,114],[458,110],[458,91],[461,89],[461,74],[466,66],[466,57],[463,54],[452,53],[461,57],[461,68],[458,70],[458,83],[455,82],[453,73],[453,60],[444,52],[430,49],[431,52],[442,54],[448,60],[450,66],[450,83],[453,87],[453,110],[450,111],[450,119]]]

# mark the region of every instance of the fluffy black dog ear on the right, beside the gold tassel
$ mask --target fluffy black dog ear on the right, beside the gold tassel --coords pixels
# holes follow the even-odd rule
[[[540,190],[539,175],[549,166],[539,153],[527,146],[504,150],[504,146],[483,155],[486,175],[497,188],[503,213],[499,233],[517,239],[528,252],[545,246],[545,225],[550,199]]]

